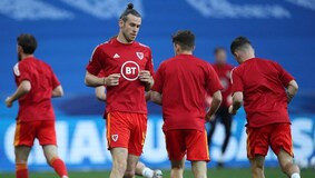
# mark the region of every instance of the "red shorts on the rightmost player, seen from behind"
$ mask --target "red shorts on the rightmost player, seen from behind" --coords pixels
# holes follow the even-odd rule
[[[284,149],[293,157],[289,123],[273,123],[259,128],[247,128],[247,157],[266,156],[270,146],[275,155]]]

